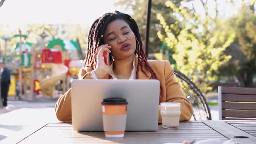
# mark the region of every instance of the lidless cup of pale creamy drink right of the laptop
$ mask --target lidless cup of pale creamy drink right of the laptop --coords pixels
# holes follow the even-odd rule
[[[161,102],[161,118],[163,128],[178,128],[180,124],[181,103]]]

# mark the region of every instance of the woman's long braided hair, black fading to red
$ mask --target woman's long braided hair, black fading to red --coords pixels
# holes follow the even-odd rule
[[[114,20],[124,20],[130,26],[132,32],[135,34],[135,38],[138,40],[138,41],[136,40],[136,50],[135,50],[135,55],[138,55],[136,79],[139,79],[138,77],[139,69],[141,69],[141,71],[144,72],[144,74],[149,77],[149,75],[146,74],[144,69],[142,69],[143,65],[151,73],[150,79],[158,79],[156,73],[148,64],[148,59],[145,55],[144,49],[142,48],[143,43],[141,40],[141,34],[139,33],[139,28],[137,23],[131,16],[125,13],[121,13],[119,11],[115,11],[115,13],[105,13],[103,16],[99,17],[97,20],[95,20],[92,23],[92,26],[89,30],[89,35],[88,35],[88,47],[87,47],[87,55],[85,57],[84,67],[90,68],[92,70],[95,69],[95,66],[97,65],[96,49],[99,46],[104,44],[102,35],[104,34],[108,24],[113,22]],[[162,86],[160,86],[160,90],[161,90],[161,97],[162,97],[162,91],[163,91]]]

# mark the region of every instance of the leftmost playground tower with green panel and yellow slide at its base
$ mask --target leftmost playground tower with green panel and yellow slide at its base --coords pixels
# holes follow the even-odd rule
[[[23,42],[17,43],[14,48],[14,53],[3,56],[4,61],[7,64],[7,67],[11,70],[11,84],[9,88],[8,95],[16,95],[16,89],[18,88],[20,92],[24,92],[26,97],[27,84],[29,89],[33,91],[31,85],[33,82],[33,77],[31,77],[31,47],[32,43],[26,42],[26,35],[19,35],[14,37],[24,38]],[[21,66],[20,66],[21,64]],[[19,75],[18,75],[19,74]],[[21,95],[21,93],[19,94]]]

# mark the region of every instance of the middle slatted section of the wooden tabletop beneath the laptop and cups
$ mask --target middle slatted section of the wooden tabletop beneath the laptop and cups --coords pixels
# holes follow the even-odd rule
[[[200,125],[197,125],[200,124]],[[125,137],[123,138],[109,138],[105,137],[104,132],[76,132],[72,129],[71,124],[65,123],[55,123],[47,124],[45,127],[41,128],[36,133],[30,135],[19,144],[42,142],[53,143],[53,141],[58,141],[58,143],[112,143],[112,142],[125,142],[125,143],[152,143],[152,144],[163,144],[167,142],[182,142],[193,140],[204,140],[204,139],[216,139],[220,141],[226,141],[228,138],[214,131],[202,122],[194,124],[181,123],[180,128],[174,130],[168,130],[162,128],[159,125],[158,131],[136,131],[136,132],[125,132]],[[199,127],[199,128],[198,128]],[[203,128],[203,129],[200,129]],[[205,129],[206,128],[206,129]],[[44,137],[47,137],[45,139]],[[52,139],[48,141],[48,139]],[[66,141],[63,141],[66,139]]]

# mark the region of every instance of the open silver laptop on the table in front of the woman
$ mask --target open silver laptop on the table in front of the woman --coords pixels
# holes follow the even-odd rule
[[[126,98],[125,131],[156,131],[160,82],[158,80],[73,80],[72,126],[75,131],[103,131],[103,98]]]

